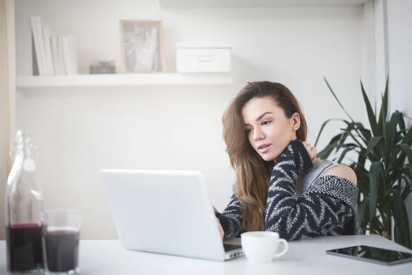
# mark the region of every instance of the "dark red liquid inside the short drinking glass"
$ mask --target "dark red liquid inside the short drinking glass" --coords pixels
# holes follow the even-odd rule
[[[45,232],[47,268],[50,272],[68,272],[78,267],[80,231],[47,230]]]

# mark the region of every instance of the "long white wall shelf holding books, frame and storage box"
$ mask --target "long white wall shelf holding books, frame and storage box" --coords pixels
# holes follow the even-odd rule
[[[141,85],[227,85],[231,74],[79,74],[74,76],[18,76],[18,89],[47,87],[120,87]]]

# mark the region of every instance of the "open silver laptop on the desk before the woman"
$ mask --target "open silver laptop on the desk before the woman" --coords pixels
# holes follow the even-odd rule
[[[225,261],[243,255],[220,239],[196,170],[102,169],[113,219],[127,250]]]

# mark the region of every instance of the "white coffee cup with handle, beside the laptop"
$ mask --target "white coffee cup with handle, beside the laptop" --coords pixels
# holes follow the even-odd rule
[[[251,231],[240,235],[242,249],[249,261],[267,263],[283,256],[289,248],[285,239],[279,239],[279,234],[267,231]],[[277,252],[279,243],[284,243],[282,252]]]

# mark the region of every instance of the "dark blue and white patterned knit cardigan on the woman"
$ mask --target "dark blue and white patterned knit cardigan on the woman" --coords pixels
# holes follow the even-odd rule
[[[290,142],[279,156],[269,182],[265,209],[265,230],[277,232],[288,241],[316,236],[361,234],[356,199],[358,188],[334,175],[317,179],[314,187],[297,199],[297,175],[313,164],[300,140]],[[225,236],[240,236],[242,203],[233,195],[227,208],[216,212]]]

